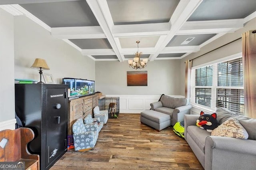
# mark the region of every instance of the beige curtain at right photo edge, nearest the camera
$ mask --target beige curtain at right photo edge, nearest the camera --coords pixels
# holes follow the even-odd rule
[[[244,62],[244,113],[256,118],[256,33],[242,34],[242,53]]]

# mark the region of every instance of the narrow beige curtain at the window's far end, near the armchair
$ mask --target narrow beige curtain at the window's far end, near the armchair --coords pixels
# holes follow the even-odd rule
[[[185,97],[188,99],[188,103],[190,103],[190,77],[191,77],[191,68],[192,61],[186,60],[186,70],[185,70]]]

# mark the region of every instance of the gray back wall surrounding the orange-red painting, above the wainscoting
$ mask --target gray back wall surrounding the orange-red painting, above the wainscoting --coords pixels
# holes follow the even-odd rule
[[[127,86],[128,61],[96,61],[96,91],[105,95],[180,95],[180,60],[149,61],[148,86]]]

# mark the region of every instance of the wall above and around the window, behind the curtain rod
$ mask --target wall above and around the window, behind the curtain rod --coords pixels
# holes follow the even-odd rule
[[[241,28],[240,30],[237,30],[234,33],[228,33],[224,36],[218,38],[217,40],[214,40],[213,42],[205,45],[198,51],[197,53],[191,53],[190,55],[184,57],[180,61],[180,95],[185,95],[185,64],[184,62],[187,59],[194,59],[204,53],[207,53],[208,51],[211,51],[217,47],[220,47],[226,43],[232,42],[233,40],[236,40],[237,38],[240,38],[242,34],[248,30],[255,30],[256,29],[256,18],[250,20],[246,24],[244,24],[244,28]],[[193,60],[193,67],[196,65],[200,65],[203,63],[208,63],[210,61],[214,61],[223,57],[227,57],[236,53],[242,52],[242,40],[237,40],[236,42],[230,43],[228,45],[225,45],[224,47],[221,47],[215,51],[212,51],[206,55],[203,55],[197,59]],[[241,56],[242,57],[242,56]]]

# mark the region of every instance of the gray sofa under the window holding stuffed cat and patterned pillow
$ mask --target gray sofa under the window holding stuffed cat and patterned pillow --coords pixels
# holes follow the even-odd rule
[[[185,140],[206,170],[255,170],[256,168],[256,119],[236,115],[225,108],[218,108],[217,119],[222,124],[236,117],[248,132],[248,139],[211,136],[211,132],[196,126],[199,115],[185,115]]]

